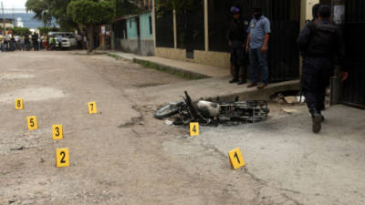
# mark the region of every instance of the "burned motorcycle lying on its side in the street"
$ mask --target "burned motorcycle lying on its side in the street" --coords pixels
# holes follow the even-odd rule
[[[266,120],[269,109],[264,100],[249,100],[228,103],[199,100],[193,103],[192,98],[185,91],[183,101],[170,103],[157,110],[155,118],[169,118],[179,114],[173,124],[187,125],[190,122],[201,124],[218,124],[226,121],[253,123]]]

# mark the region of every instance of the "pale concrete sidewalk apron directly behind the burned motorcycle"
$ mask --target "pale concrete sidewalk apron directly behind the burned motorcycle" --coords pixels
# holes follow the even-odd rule
[[[150,98],[148,104],[163,105],[181,100],[185,90],[188,91],[193,100],[202,97],[204,99],[220,97],[223,101],[235,101],[235,97],[239,97],[240,100],[268,100],[276,92],[299,89],[298,80],[270,84],[265,89],[258,90],[256,87],[247,88],[246,85],[229,84],[229,79],[230,77],[205,78],[157,87],[129,88],[124,91],[132,97]]]

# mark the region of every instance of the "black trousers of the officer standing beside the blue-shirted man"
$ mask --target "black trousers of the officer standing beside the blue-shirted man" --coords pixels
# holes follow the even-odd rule
[[[243,46],[232,48],[231,50],[231,64],[235,67],[234,78],[239,79],[241,74],[241,80],[246,80],[247,73],[247,61],[248,57],[245,54]]]

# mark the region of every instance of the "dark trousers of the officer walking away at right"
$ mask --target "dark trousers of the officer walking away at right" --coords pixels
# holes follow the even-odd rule
[[[333,75],[334,64],[331,59],[306,57],[303,61],[301,86],[310,111],[320,112],[325,108],[326,88]]]

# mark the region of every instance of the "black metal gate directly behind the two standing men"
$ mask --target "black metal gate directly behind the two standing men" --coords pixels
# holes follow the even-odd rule
[[[300,31],[300,0],[209,0],[209,49],[228,51],[225,33],[232,19],[230,6],[241,5],[250,19],[252,9],[261,7],[271,21],[269,42],[270,81],[286,81],[299,77],[297,36]]]

